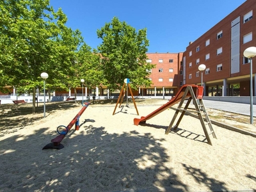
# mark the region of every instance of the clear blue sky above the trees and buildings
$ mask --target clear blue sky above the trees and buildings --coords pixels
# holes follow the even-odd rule
[[[147,28],[148,52],[184,52],[246,0],[51,0],[67,15],[67,26],[79,29],[84,42],[97,49],[97,29],[113,17],[138,31]]]

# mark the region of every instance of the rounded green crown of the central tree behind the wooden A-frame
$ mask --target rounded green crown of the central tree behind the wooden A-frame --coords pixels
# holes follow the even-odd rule
[[[131,79],[133,88],[152,83],[148,75],[155,65],[146,61],[149,45],[146,29],[136,32],[126,22],[114,17],[111,23],[97,30],[97,36],[102,38],[98,51],[102,56],[106,86],[110,90],[120,88],[125,78]]]

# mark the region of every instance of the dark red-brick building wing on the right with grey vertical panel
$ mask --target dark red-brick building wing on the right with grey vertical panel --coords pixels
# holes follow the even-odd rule
[[[243,52],[256,47],[256,0],[247,0],[195,42],[189,42],[184,52],[183,84],[203,85],[205,95],[232,95],[239,84],[240,95],[250,95],[250,60]],[[198,70],[205,64],[203,73]],[[255,93],[256,57],[253,59],[253,95]]]

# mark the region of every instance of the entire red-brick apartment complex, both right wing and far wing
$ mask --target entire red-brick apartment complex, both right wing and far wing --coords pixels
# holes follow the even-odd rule
[[[183,84],[203,84],[204,95],[234,95],[234,84],[239,85],[239,95],[250,95],[250,60],[243,56],[248,47],[256,47],[256,0],[244,1],[232,13],[189,42],[185,52],[147,53],[152,69],[149,87],[141,87],[135,95],[173,96]],[[198,66],[206,66],[203,72]],[[252,62],[253,95],[256,96],[256,56]],[[203,78],[202,78],[203,76]],[[203,83],[201,83],[203,79]],[[76,88],[81,94],[81,88]],[[58,92],[64,94],[67,92]],[[108,89],[95,88],[86,95],[108,95]],[[74,94],[70,90],[68,95]]]

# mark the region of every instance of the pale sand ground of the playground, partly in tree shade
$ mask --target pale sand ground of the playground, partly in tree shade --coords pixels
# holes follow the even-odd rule
[[[81,110],[57,109],[30,124],[1,129],[0,191],[246,191],[256,189],[256,138],[212,125],[207,144],[200,120],[184,115],[177,131],[164,134],[175,113],[161,105],[129,108],[90,105],[61,143],[42,148]],[[42,116],[42,114],[40,114]],[[26,116],[24,116],[26,118]],[[22,119],[12,117],[19,124]],[[6,121],[5,124],[8,124]],[[3,126],[3,122],[2,122]]]

